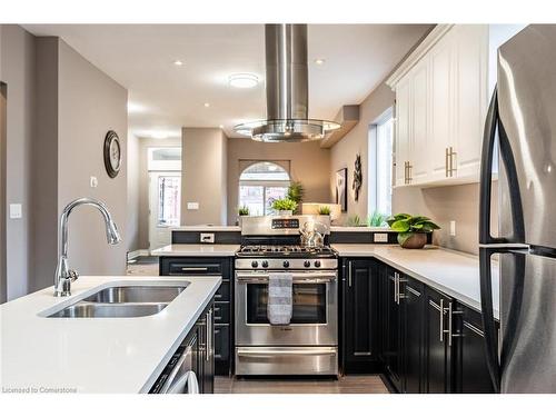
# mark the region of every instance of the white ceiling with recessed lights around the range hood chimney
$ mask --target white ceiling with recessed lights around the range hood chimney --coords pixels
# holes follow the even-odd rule
[[[129,127],[139,137],[180,128],[234,126],[262,119],[262,24],[26,24],[36,36],[58,36],[129,90]],[[360,103],[427,24],[309,24],[309,117],[332,119]],[[322,58],[322,66],[314,63]],[[175,60],[182,60],[177,67]],[[254,89],[228,85],[234,72],[256,73]],[[209,102],[206,108],[203,103]]]

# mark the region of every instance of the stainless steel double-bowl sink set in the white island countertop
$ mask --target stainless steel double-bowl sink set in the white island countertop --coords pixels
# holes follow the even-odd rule
[[[47,317],[116,318],[152,316],[162,311],[189,284],[118,285],[107,287]]]

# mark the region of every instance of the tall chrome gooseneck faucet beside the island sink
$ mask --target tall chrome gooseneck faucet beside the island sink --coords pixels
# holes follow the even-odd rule
[[[118,228],[112,220],[108,208],[100,201],[92,198],[78,198],[71,201],[60,216],[60,231],[58,236],[58,266],[54,274],[54,297],[71,296],[71,282],[79,278],[75,269],[68,266],[68,218],[71,211],[78,206],[92,206],[102,215],[106,224],[106,237],[108,244],[117,245],[121,238]]]

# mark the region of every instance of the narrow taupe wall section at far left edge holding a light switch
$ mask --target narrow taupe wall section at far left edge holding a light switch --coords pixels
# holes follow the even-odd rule
[[[34,37],[0,26],[0,73],[7,88],[6,202],[22,203],[21,219],[6,220],[8,299],[28,292],[31,259],[31,145],[34,116]]]

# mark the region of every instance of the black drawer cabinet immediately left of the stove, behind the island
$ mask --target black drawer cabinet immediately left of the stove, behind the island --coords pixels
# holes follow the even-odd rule
[[[230,353],[234,348],[234,258],[219,257],[160,257],[159,274],[161,276],[218,275],[222,284],[215,295],[215,371],[216,375],[230,375],[232,371]]]

